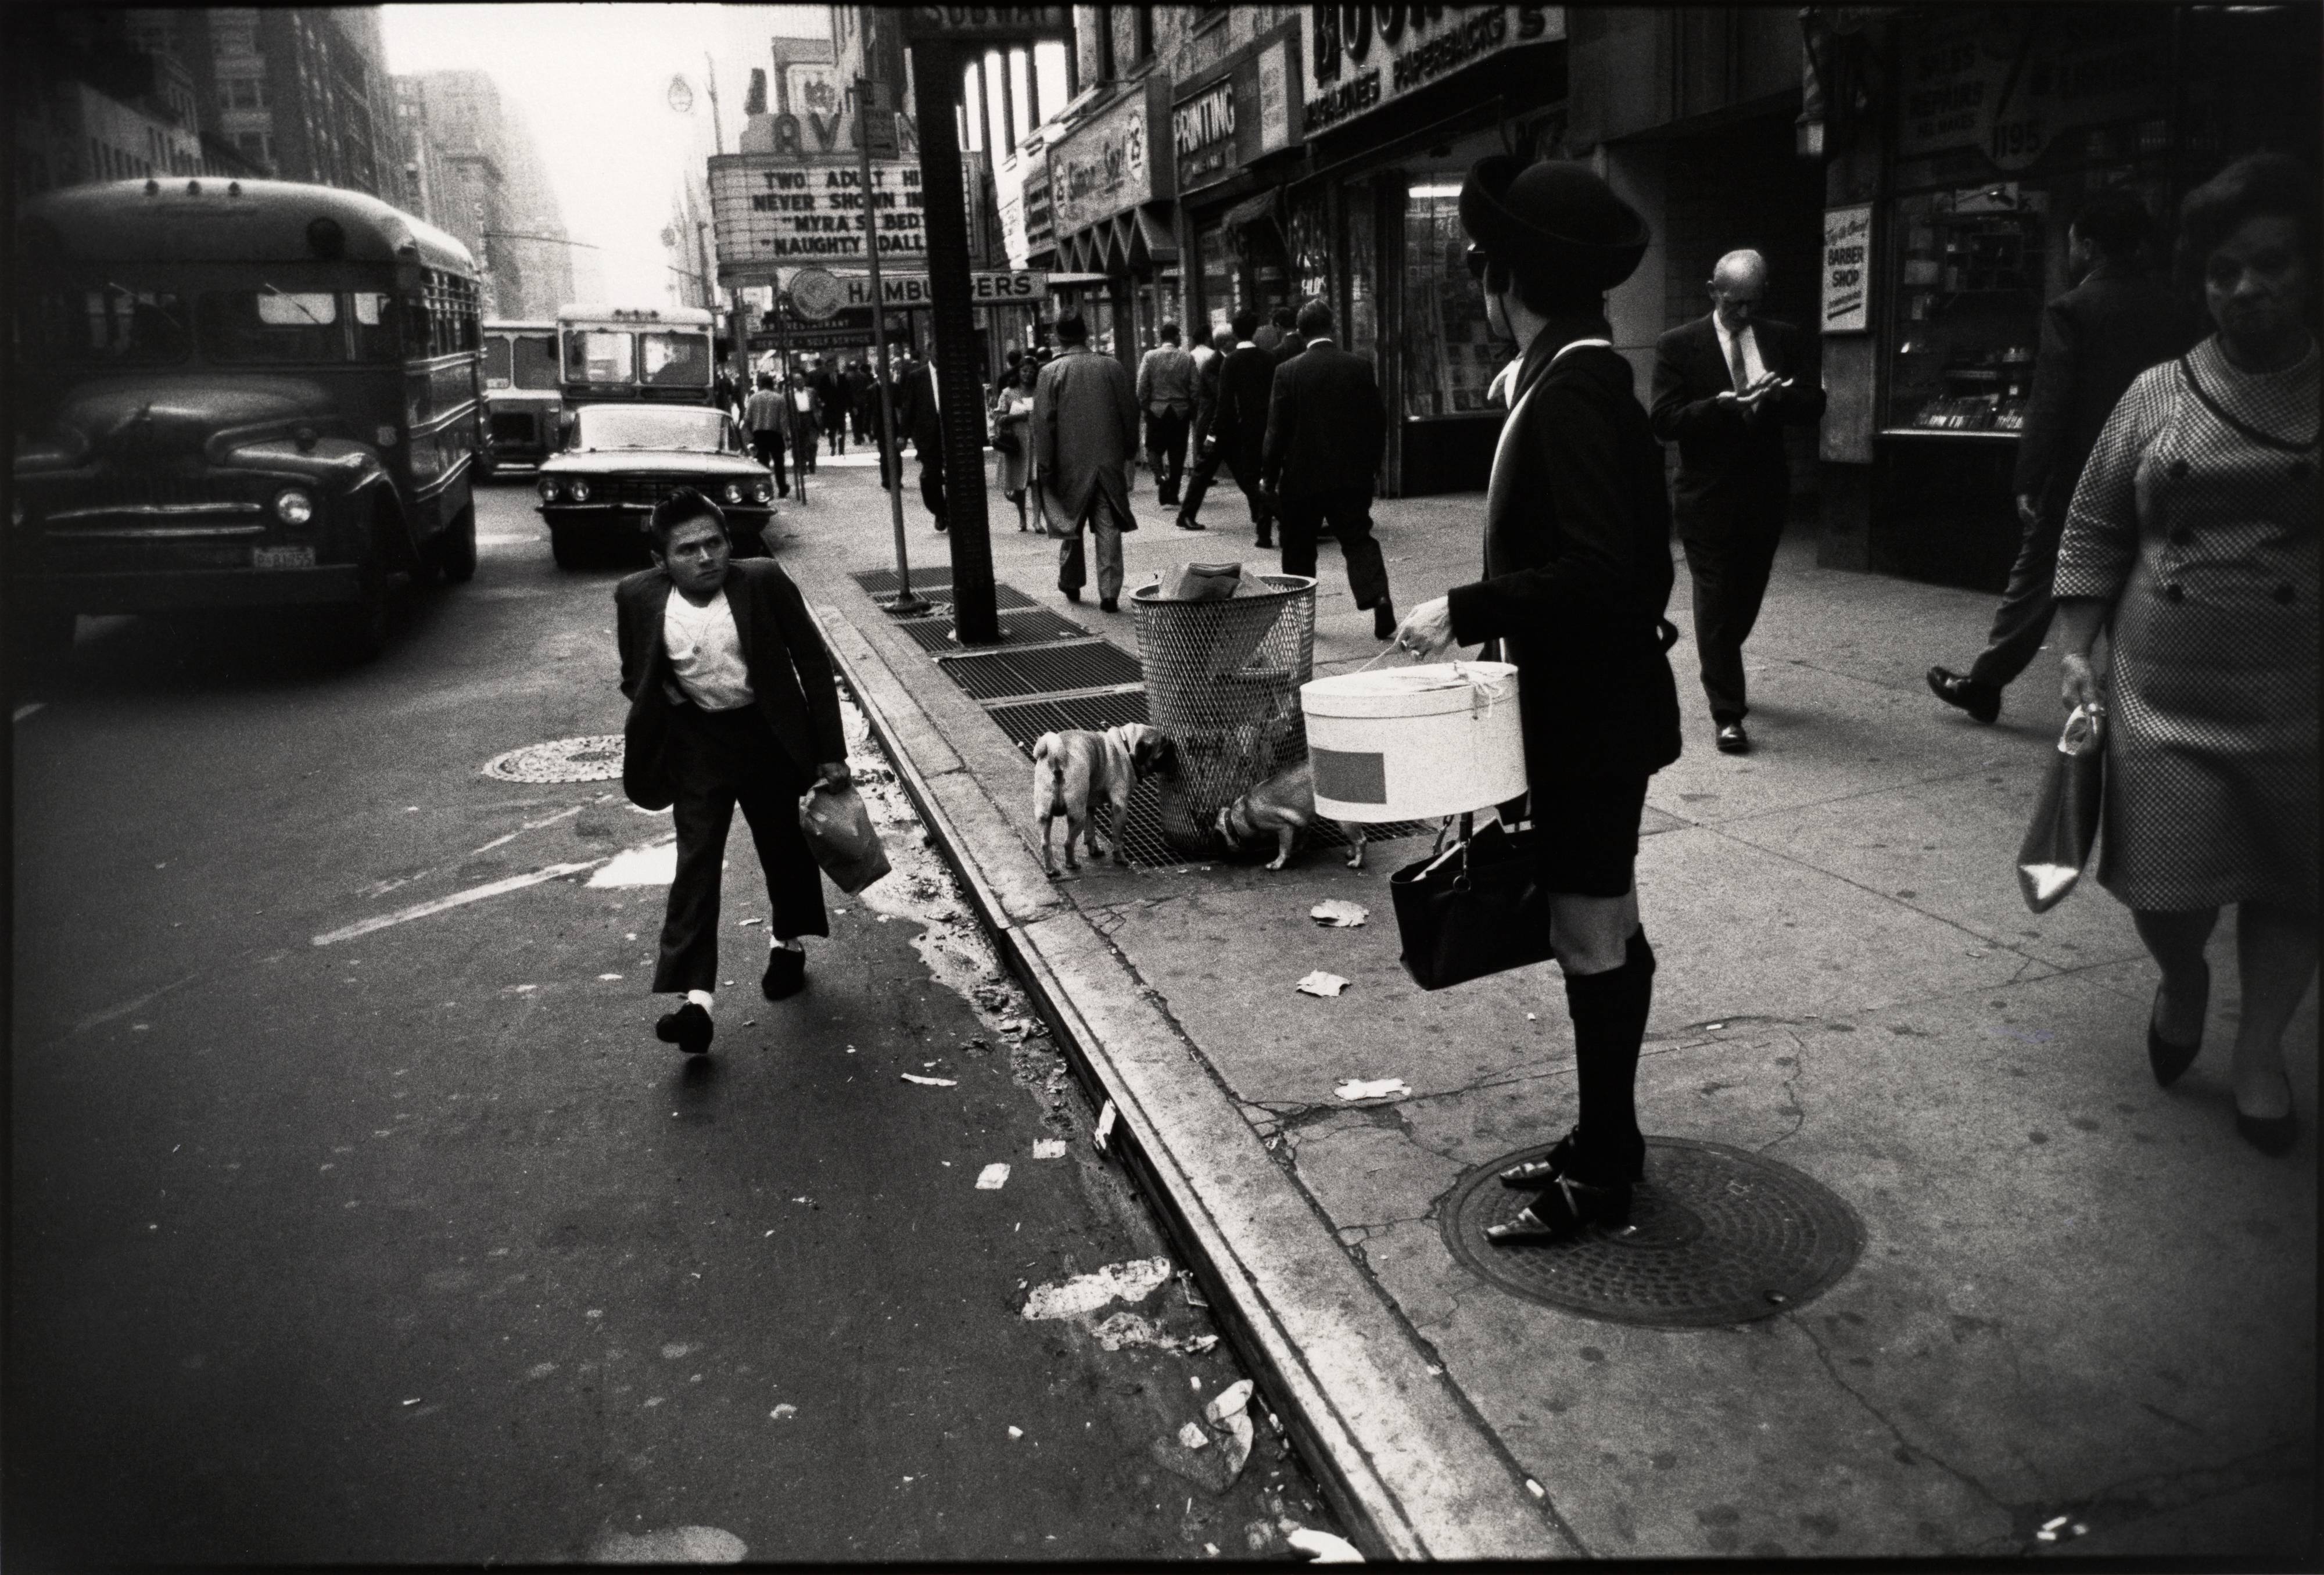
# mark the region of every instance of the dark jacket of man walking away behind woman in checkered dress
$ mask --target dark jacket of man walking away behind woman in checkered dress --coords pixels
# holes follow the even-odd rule
[[[2119,262],[2099,262],[2050,302],[2013,490],[2045,516],[2066,518],[2073,483],[2131,381],[2182,355],[2201,332],[2178,295]]]

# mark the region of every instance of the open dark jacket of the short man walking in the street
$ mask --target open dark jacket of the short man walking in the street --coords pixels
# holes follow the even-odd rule
[[[846,760],[848,736],[839,725],[839,690],[832,685],[832,657],[823,650],[823,632],[806,611],[806,599],[783,567],[767,558],[737,560],[727,567],[727,606],[741,634],[744,667],[758,713],[776,743],[813,776],[816,767]],[[623,727],[621,790],[639,808],[669,808],[676,788],[662,760],[669,736],[669,650],[662,646],[662,613],[669,609],[672,583],[660,567],[644,569],[614,585],[614,627],[621,639],[621,692],[630,697],[630,720]],[[804,788],[804,783],[802,783]]]

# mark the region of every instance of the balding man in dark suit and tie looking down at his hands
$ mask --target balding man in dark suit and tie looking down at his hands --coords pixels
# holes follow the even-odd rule
[[[1694,648],[1724,755],[1750,753],[1743,641],[1783,544],[1792,476],[1783,427],[1824,413],[1799,330],[1759,316],[1766,258],[1729,251],[1710,269],[1710,316],[1655,341],[1655,437],[1678,444],[1678,539],[1694,578]]]

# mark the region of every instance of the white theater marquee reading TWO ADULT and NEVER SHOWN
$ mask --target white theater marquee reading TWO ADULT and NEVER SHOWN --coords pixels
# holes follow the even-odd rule
[[[869,202],[855,158],[720,153],[709,165],[720,283],[865,262],[874,235],[881,262],[927,262],[918,160],[874,160]]]

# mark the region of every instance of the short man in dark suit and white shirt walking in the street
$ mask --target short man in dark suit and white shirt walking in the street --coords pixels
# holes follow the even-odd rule
[[[718,983],[718,871],[741,804],[767,873],[769,1001],[806,985],[799,936],[827,936],[823,871],[799,832],[799,794],[848,783],[848,743],[823,634],[774,560],[732,562],[720,509],[683,488],[653,511],[653,569],[614,588],[621,692],[630,697],[621,785],[639,808],[672,808],[669,885],[655,992],[686,1001],[655,1036],[711,1045]]]

